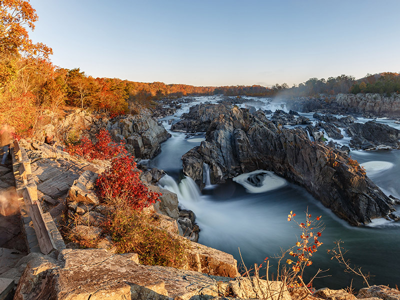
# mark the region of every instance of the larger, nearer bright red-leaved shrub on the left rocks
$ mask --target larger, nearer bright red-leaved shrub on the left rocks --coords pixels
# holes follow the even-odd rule
[[[96,181],[99,195],[109,204],[126,203],[141,210],[159,200],[160,193],[149,191],[140,181],[140,171],[132,156],[115,157]]]

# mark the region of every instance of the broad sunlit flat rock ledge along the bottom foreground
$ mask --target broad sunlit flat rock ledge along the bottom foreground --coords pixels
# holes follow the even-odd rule
[[[136,256],[102,249],[65,249],[27,263],[14,300],[247,299],[290,300],[282,282],[218,277],[172,267],[141,265]],[[269,289],[267,289],[269,286]]]

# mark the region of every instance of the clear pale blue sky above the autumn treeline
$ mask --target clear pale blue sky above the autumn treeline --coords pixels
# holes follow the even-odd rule
[[[31,0],[33,41],[93,77],[290,86],[400,71],[399,0]]]

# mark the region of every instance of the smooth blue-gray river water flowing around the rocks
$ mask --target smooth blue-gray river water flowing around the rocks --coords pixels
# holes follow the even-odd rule
[[[201,100],[212,99],[196,98],[197,102]],[[265,103],[262,109],[271,109],[267,98],[257,100],[260,107],[260,102]],[[190,104],[164,120],[173,118],[176,121],[181,112],[188,111],[188,106]],[[278,109],[282,109],[281,106]],[[310,116],[312,118],[312,113]],[[170,125],[166,127],[169,130]],[[182,175],[181,155],[200,144],[200,138],[204,135],[188,139],[184,133],[170,133],[172,137],[161,145],[161,153],[148,163],[168,173],[159,184],[178,195],[181,207],[195,213],[201,230],[200,243],[231,253],[238,261],[240,247],[247,266],[261,263],[268,256],[272,270],[276,266],[273,256],[280,253],[281,247],[287,249],[294,245],[296,236],[300,235],[300,231],[293,227],[294,223],[287,221],[287,214],[293,210],[297,214],[296,219],[304,221],[304,211],[308,207],[308,212],[313,216],[322,215],[325,229],[319,239],[323,244],[312,256],[313,264],[308,267],[305,277],[313,275],[318,267],[329,269],[324,274],[331,275],[315,279],[315,287],[344,288],[350,285],[351,278],[354,278],[353,287],[362,287],[361,279],[345,273],[326,253],[326,249],[333,248],[333,242],[339,239],[344,241],[343,246],[349,250],[347,258],[362,266],[363,271],[375,275],[370,279],[370,284],[389,284],[394,287],[394,284],[400,283],[400,222],[376,219],[368,226],[352,227],[304,188],[270,171],[242,174],[224,184],[209,185],[200,191],[191,178]],[[349,138],[337,141],[348,145]],[[367,175],[383,192],[399,197],[400,151],[352,150],[349,155],[365,166]]]

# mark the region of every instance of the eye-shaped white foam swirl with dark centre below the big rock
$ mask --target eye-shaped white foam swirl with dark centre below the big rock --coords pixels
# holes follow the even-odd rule
[[[287,181],[271,171],[256,170],[244,173],[233,178],[233,181],[241,184],[250,193],[266,192],[280,188]]]

